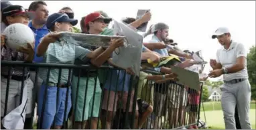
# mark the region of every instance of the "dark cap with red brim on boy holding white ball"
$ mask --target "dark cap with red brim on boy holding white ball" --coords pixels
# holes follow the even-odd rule
[[[20,5],[9,5],[8,7],[5,7],[2,11],[2,17],[3,19],[6,19],[7,16],[21,15],[24,13],[29,17],[29,19],[33,19],[35,17],[34,11],[28,11]]]

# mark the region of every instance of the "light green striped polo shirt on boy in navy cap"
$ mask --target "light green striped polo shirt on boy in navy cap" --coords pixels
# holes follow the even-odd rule
[[[50,43],[43,56],[42,63],[74,64],[75,59],[87,61],[86,55],[90,53],[74,41],[71,37],[62,41]],[[47,81],[48,68],[40,68],[39,75],[44,82]],[[59,69],[50,70],[49,82],[58,83]],[[68,69],[62,69],[60,83],[68,82]]]

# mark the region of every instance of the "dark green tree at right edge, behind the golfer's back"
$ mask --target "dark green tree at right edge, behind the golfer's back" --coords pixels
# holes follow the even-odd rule
[[[250,48],[250,52],[247,55],[247,69],[249,75],[249,81],[251,83],[251,99],[256,99],[256,54],[255,46]]]

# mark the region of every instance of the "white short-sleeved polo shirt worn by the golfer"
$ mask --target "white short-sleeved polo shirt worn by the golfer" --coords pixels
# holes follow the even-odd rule
[[[235,65],[238,57],[247,57],[247,52],[242,43],[237,43],[235,41],[231,42],[229,49],[222,47],[217,51],[216,61],[220,63],[222,67],[232,67]],[[230,81],[232,79],[247,79],[247,61],[245,61],[245,69],[238,71],[236,73],[229,73],[223,75],[224,81]]]

